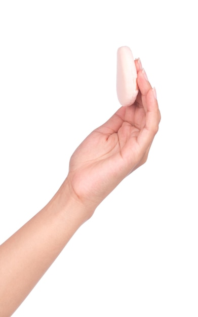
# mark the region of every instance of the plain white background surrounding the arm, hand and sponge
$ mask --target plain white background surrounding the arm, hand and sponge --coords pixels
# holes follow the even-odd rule
[[[196,12],[192,0],[0,2],[1,243],[120,107],[118,47],[141,58],[162,114],[147,163],[75,233],[15,317],[198,315]]]

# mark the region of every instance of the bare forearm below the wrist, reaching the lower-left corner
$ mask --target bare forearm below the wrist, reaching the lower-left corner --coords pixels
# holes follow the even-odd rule
[[[67,182],[49,204],[0,246],[0,315],[11,316],[85,222]]]

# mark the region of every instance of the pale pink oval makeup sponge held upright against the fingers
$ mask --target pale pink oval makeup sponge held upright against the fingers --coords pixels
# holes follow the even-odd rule
[[[138,94],[137,70],[132,51],[127,46],[117,50],[117,98],[122,106],[132,105]]]

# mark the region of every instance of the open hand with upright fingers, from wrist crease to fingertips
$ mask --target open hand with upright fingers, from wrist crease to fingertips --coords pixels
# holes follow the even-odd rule
[[[67,181],[75,199],[94,212],[128,174],[144,164],[161,115],[155,89],[136,60],[139,93],[94,130],[72,154]]]

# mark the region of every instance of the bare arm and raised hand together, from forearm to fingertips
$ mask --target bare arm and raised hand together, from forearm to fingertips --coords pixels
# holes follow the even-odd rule
[[[161,115],[155,90],[136,60],[139,93],[75,150],[52,200],[0,246],[0,315],[11,316],[75,231],[130,173],[144,164]]]

